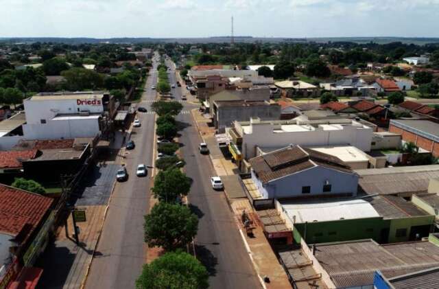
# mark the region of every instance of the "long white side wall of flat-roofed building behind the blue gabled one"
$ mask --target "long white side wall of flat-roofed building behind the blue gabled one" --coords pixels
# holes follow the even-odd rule
[[[350,145],[364,152],[370,151],[372,128],[343,126],[342,130],[274,132],[272,124],[251,124],[251,132],[242,135],[242,153],[246,159],[256,156],[256,147],[270,148],[298,144],[301,146]]]

